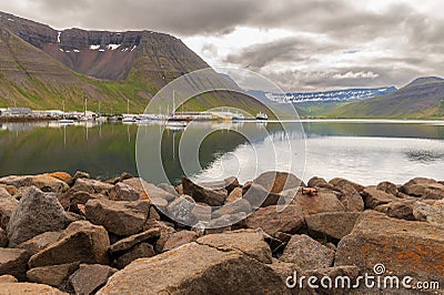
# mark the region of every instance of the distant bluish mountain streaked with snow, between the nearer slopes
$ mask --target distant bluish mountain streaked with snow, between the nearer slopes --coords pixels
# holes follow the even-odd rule
[[[347,102],[366,100],[395,92],[396,88],[343,89],[321,92],[271,93],[251,90],[249,93],[263,102],[293,103],[301,116],[323,113]]]

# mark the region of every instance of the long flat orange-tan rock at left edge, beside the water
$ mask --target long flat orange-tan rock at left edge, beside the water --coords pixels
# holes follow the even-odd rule
[[[7,176],[0,179],[1,184],[13,185],[16,187],[22,186],[37,186],[43,192],[53,192],[61,194],[69,189],[69,185],[59,179],[50,176],[49,174],[41,175],[26,175],[26,176]]]

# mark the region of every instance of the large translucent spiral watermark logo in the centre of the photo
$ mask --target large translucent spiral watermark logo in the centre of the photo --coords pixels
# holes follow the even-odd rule
[[[253,213],[270,194],[271,187],[268,187],[269,191],[244,192],[243,197],[229,204],[219,202],[218,191],[225,189],[226,181],[223,180],[228,177],[253,180],[265,171],[287,171],[303,176],[305,135],[294,106],[271,102],[248,93],[239,85],[268,89],[271,93],[284,95],[276,84],[252,71],[204,69],[186,73],[165,85],[144,111],[147,118],[158,114],[158,128],[139,125],[135,143],[139,176],[147,183],[170,183],[165,166],[169,161],[178,161],[188,179],[213,192],[208,196],[211,200],[203,201],[185,195],[175,200],[153,200],[162,214],[180,224],[201,228],[232,225]],[[195,102],[200,102],[199,111],[186,108]],[[212,103],[202,109],[208,102]],[[183,111],[183,105],[186,111]],[[270,129],[273,129],[272,133]],[[229,145],[233,136],[226,136],[228,133],[243,139],[244,155],[230,159],[235,153],[225,153],[216,159],[221,160],[219,169],[218,165],[211,171],[202,167],[202,144],[215,136],[214,145]],[[228,164],[224,164],[225,160]],[[149,187],[145,191],[150,195]],[[276,210],[282,211],[291,199],[280,197]]]

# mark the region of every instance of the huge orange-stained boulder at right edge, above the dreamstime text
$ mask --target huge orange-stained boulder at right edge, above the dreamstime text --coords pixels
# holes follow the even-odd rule
[[[339,243],[335,265],[356,265],[362,273],[373,273],[376,264],[400,277],[443,282],[444,228],[364,212]]]

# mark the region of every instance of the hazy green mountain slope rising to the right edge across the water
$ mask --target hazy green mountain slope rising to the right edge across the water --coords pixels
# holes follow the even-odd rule
[[[418,78],[384,96],[342,105],[327,113],[334,118],[441,119],[444,116],[444,80]]]

